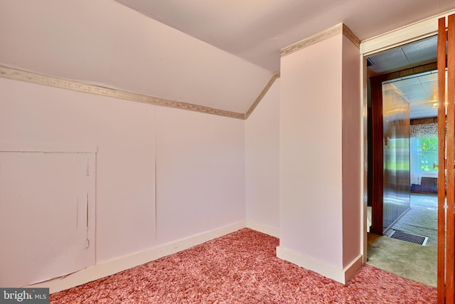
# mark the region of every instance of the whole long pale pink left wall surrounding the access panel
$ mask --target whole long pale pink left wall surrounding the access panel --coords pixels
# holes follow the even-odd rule
[[[244,121],[3,78],[0,91],[0,142],[97,146],[96,263],[245,221]]]

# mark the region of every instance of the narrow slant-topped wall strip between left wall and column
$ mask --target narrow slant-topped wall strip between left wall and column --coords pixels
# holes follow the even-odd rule
[[[245,121],[247,225],[279,236],[279,83]]]

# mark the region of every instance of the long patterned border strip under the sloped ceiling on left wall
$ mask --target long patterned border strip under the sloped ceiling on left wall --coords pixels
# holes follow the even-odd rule
[[[245,120],[245,114],[242,113],[219,110],[215,108],[205,107],[203,105],[194,105],[192,103],[182,103],[176,100],[132,93],[124,90],[115,90],[112,88],[105,88],[98,85],[89,85],[86,83],[79,83],[74,80],[66,80],[48,75],[41,75],[38,73],[28,72],[25,70],[7,68],[5,66],[0,66],[0,77],[8,78],[11,80],[26,81],[28,83],[35,83],[38,85],[48,85],[55,88],[75,90],[77,92],[82,93],[90,93],[108,96],[112,98],[119,98],[123,100],[131,100],[137,103],[148,103],[149,105],[160,105],[168,108],[190,110],[194,112],[203,112],[206,114],[213,114]]]

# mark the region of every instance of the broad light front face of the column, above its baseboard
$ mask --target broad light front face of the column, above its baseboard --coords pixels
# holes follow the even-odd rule
[[[341,35],[282,58],[279,132],[280,246],[340,268],[341,66]]]

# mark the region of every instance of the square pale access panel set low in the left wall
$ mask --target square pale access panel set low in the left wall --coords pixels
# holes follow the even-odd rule
[[[95,153],[0,152],[0,231],[2,287],[94,265]]]

